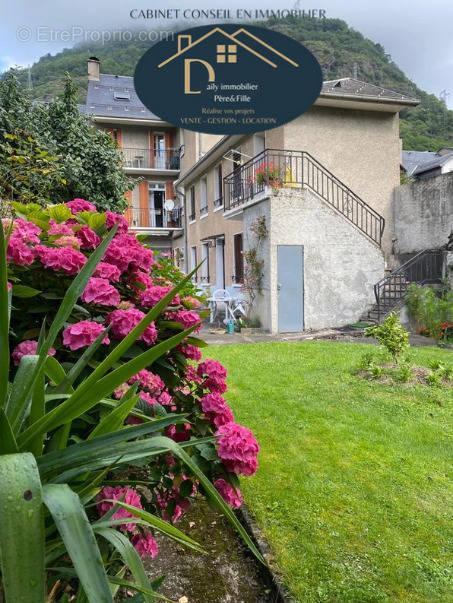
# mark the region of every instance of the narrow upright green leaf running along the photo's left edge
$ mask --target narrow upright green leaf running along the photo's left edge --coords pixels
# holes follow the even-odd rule
[[[8,395],[9,373],[9,303],[8,277],[6,271],[6,240],[3,223],[0,220],[0,408],[3,408]]]

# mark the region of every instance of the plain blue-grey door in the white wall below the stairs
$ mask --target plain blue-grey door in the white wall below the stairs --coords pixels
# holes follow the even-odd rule
[[[277,247],[278,330],[297,333],[304,329],[304,248]]]

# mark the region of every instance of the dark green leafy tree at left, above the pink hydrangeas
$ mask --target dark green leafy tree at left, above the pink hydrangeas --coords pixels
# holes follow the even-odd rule
[[[49,104],[30,101],[14,73],[0,83],[3,197],[26,202],[34,196],[42,204],[79,197],[93,199],[101,210],[125,209],[124,193],[132,182],[121,167],[121,151],[80,113],[76,98],[68,74],[62,94]]]

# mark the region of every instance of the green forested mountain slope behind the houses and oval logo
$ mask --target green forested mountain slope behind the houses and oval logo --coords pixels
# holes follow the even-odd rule
[[[324,79],[352,76],[373,84],[398,90],[421,100],[418,107],[401,115],[401,137],[406,149],[438,150],[453,146],[453,111],[433,94],[418,88],[385,53],[384,48],[365,38],[340,19],[271,19],[259,25],[285,33],[305,44],[319,60]],[[61,76],[68,71],[80,86],[84,102],[86,59],[95,55],[103,73],[133,75],[149,42],[110,42],[104,45],[82,44],[51,56],[42,57],[31,68],[35,98],[53,96],[61,89]],[[20,74],[23,83],[27,73]]]

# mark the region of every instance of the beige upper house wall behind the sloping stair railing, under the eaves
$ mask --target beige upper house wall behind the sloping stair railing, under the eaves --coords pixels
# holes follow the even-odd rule
[[[393,191],[400,183],[398,114],[313,106],[283,126],[285,149],[311,153],[386,220],[390,260]]]

